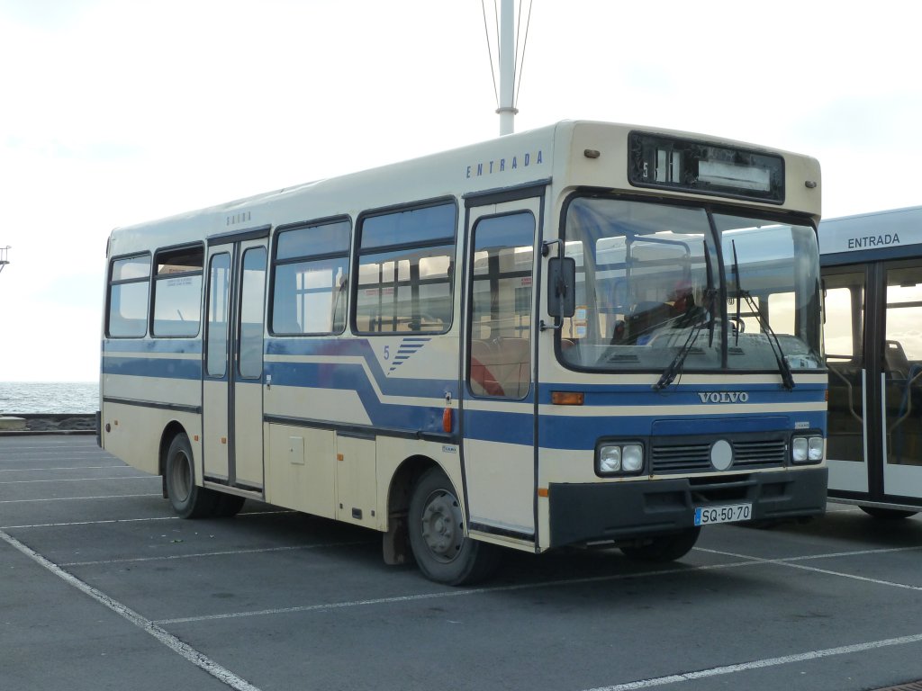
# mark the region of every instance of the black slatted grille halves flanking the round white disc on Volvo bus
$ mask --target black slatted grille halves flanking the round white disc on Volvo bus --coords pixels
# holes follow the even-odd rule
[[[653,474],[708,473],[711,465],[711,444],[714,438],[694,439],[660,437],[652,439],[650,461]],[[787,439],[778,434],[727,435],[733,447],[733,463],[727,469],[752,470],[784,467],[787,460]]]

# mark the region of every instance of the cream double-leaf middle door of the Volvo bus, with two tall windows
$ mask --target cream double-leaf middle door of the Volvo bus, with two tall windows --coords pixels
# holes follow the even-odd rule
[[[268,230],[208,247],[202,438],[206,482],[262,495]]]

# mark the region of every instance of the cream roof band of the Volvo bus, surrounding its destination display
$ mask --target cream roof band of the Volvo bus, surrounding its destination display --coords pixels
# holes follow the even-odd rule
[[[739,146],[780,156],[785,162],[786,198],[781,205],[747,201],[771,210],[794,210],[819,220],[820,166],[815,158],[710,135],[656,127],[593,121],[561,121],[379,168],[305,182],[160,220],[116,228],[110,256],[144,248],[202,240],[234,231],[278,227],[318,218],[346,216],[427,199],[551,184],[558,192],[575,187],[630,190],[698,200],[701,193],[634,187],[628,180],[628,135],[644,132],[683,137],[717,146]],[[344,147],[344,150],[348,150]],[[592,152],[593,155],[590,155]],[[805,184],[806,183],[806,184]],[[733,200],[727,200],[733,203]],[[556,211],[557,209],[553,209]]]

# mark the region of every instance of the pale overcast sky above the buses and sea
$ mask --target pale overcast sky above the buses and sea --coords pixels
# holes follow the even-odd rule
[[[824,217],[922,204],[916,24],[534,0],[515,129],[727,136],[819,158]],[[479,0],[0,0],[0,64],[0,381],[98,378],[112,228],[499,132]]]

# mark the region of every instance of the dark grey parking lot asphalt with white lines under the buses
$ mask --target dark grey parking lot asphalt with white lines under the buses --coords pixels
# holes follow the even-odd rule
[[[667,565],[510,552],[450,588],[378,533],[183,521],[92,436],[0,437],[2,689],[878,689],[922,678],[922,518],[710,526]]]

